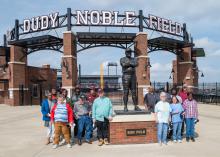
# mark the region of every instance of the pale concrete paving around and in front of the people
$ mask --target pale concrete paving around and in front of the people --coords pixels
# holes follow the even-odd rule
[[[45,128],[39,106],[9,107],[0,105],[0,157],[219,157],[220,106],[199,105],[199,137],[195,143],[109,145],[83,144],[68,149],[45,146]]]

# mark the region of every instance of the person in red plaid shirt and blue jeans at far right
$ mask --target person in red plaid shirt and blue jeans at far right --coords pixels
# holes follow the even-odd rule
[[[186,141],[189,142],[189,139],[191,139],[195,142],[194,128],[195,122],[198,120],[198,106],[192,93],[188,93],[187,96],[188,98],[183,103],[186,120]]]

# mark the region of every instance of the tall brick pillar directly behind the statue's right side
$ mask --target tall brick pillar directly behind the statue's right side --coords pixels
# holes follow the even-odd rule
[[[144,105],[143,90],[150,86],[150,68],[148,67],[147,34],[140,32],[135,38],[135,52],[138,61],[136,68],[138,104]]]

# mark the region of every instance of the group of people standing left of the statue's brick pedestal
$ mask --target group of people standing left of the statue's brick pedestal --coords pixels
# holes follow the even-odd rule
[[[112,120],[112,103],[105,97],[104,90],[91,88],[89,94],[83,94],[76,86],[73,96],[68,91],[57,92],[52,89],[41,104],[44,126],[47,128],[46,144],[53,142],[53,148],[59,143],[72,147],[77,135],[78,145],[85,142],[92,144],[93,130],[97,127],[98,145],[108,144],[108,126]]]

